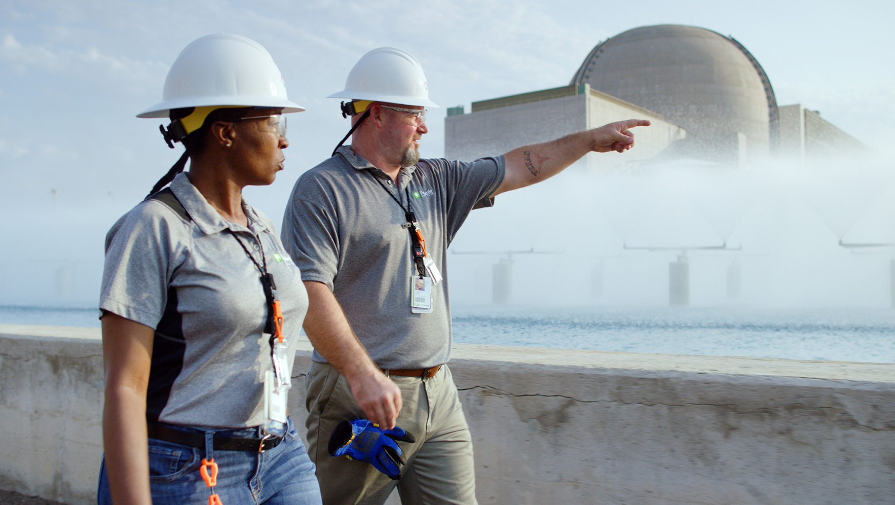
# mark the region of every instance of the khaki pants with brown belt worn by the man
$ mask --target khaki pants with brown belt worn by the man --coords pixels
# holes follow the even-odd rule
[[[345,377],[329,364],[308,371],[308,453],[317,465],[324,505],[381,505],[395,485],[404,505],[475,505],[473,441],[447,365],[430,379],[392,376],[403,407],[397,425],[416,442],[399,441],[407,465],[393,481],[363,461],[333,458],[329,435],[345,419],[364,417]]]

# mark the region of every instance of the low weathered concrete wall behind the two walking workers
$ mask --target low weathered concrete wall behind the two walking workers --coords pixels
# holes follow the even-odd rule
[[[895,364],[457,345],[451,369],[483,504],[895,496]],[[102,378],[98,330],[0,325],[0,489],[95,502]]]

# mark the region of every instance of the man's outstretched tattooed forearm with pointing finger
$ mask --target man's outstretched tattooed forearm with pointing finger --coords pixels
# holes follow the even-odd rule
[[[628,119],[599,128],[572,133],[555,141],[531,144],[504,155],[507,171],[504,180],[491,196],[540,183],[557,175],[588,152],[624,152],[634,146],[635,126],[649,126],[645,119]]]

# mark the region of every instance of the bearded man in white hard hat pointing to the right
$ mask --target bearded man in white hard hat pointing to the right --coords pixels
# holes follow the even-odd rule
[[[419,62],[392,47],[362,56],[330,98],[352,100],[342,105],[352,143],[299,178],[283,223],[310,298],[307,426],[323,501],[382,503],[397,483],[404,503],[476,503],[472,440],[446,365],[447,246],[473,208],[587,152],[630,149],[629,128],[649,122],[608,124],[471,163],[421,160],[424,107],[438,106]],[[400,481],[328,456],[336,425],[355,417],[413,435],[399,444],[407,460]]]

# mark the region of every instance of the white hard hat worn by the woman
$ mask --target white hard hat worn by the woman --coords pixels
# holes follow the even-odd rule
[[[229,33],[207,35],[185,47],[168,71],[162,101],[137,117],[167,117],[173,108],[208,106],[304,110],[286,97],[283,75],[267,49]]]

